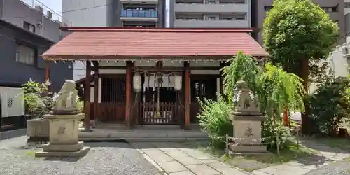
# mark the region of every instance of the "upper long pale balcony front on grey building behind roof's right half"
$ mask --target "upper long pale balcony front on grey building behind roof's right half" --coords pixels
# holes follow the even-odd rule
[[[248,4],[188,4],[176,3],[174,6],[176,13],[249,13],[250,5]]]

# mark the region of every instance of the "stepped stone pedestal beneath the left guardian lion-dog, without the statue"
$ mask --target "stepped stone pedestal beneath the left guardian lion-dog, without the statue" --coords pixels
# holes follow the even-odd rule
[[[50,120],[50,143],[45,144],[36,157],[82,157],[90,151],[78,141],[79,120],[84,118],[83,113],[43,117]]]

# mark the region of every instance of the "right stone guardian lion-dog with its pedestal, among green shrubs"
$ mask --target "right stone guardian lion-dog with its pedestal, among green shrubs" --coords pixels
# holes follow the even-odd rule
[[[234,126],[234,142],[229,144],[236,153],[263,153],[266,146],[261,144],[261,123],[265,116],[260,113],[258,101],[244,81],[238,81],[233,99],[235,110],[230,116]]]

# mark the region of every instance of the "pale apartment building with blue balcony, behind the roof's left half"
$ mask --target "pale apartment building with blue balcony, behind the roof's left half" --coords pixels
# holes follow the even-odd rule
[[[166,0],[62,0],[62,22],[74,27],[165,27]],[[85,77],[76,62],[73,80]]]

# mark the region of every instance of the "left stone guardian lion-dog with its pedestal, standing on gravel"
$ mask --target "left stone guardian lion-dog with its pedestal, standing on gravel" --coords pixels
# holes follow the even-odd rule
[[[55,94],[52,113],[43,118],[50,120],[50,142],[36,157],[82,157],[90,151],[78,141],[79,120],[83,113],[76,109],[76,83],[66,80],[61,91]]]

